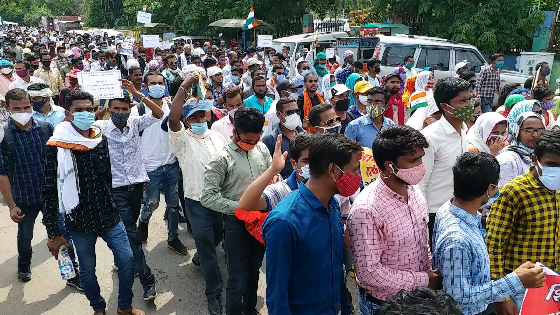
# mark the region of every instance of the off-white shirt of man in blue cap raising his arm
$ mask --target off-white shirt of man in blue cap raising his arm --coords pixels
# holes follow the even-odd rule
[[[183,173],[185,197],[200,201],[204,183],[204,165],[208,164],[212,156],[226,145],[226,138],[209,129],[202,135],[196,135],[190,129],[185,131],[181,123],[181,130],[169,129],[169,142]]]

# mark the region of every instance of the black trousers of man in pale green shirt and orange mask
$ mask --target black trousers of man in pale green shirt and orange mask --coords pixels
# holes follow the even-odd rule
[[[223,249],[227,257],[226,315],[256,313],[259,268],[263,265],[264,245],[245,229],[243,221],[223,216]],[[241,299],[243,305],[241,305]]]

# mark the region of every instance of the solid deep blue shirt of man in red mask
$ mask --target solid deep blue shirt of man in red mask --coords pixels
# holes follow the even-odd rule
[[[284,197],[263,223],[270,314],[349,314],[338,201],[329,209],[305,186]],[[288,311],[289,310],[289,311]]]

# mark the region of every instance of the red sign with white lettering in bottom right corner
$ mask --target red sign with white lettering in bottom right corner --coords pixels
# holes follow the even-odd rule
[[[560,276],[540,262],[535,265],[543,267],[547,281],[541,288],[525,290],[519,315],[557,315],[560,313]]]

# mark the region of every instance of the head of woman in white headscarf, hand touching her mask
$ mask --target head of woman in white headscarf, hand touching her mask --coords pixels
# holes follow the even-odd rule
[[[483,113],[466,133],[469,151],[496,155],[507,142],[507,119],[496,112]]]

